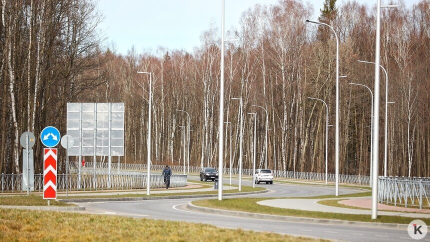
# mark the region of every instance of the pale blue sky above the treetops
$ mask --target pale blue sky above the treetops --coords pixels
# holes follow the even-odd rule
[[[376,0],[357,0],[360,3]],[[238,26],[240,15],[249,7],[275,4],[278,0],[225,0],[225,31]],[[319,15],[324,0],[307,0]],[[337,5],[342,2],[337,0]],[[407,5],[418,0],[405,0]],[[388,4],[387,0],[382,3]],[[367,3],[369,4],[369,3]],[[200,34],[213,23],[220,29],[221,0],[99,0],[98,10],[104,20],[99,29],[106,37],[106,45],[117,53],[126,54],[134,45],[136,51],[154,52],[158,46],[192,52],[200,44]],[[220,31],[220,30],[219,30]]]

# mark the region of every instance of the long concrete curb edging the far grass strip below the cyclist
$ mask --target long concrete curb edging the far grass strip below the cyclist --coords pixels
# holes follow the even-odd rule
[[[260,194],[268,192],[269,189],[261,191],[247,191],[240,193],[225,193],[223,196],[237,196],[237,195],[249,195],[249,194]],[[144,201],[144,200],[161,200],[161,199],[182,199],[182,198],[199,198],[199,197],[217,197],[218,194],[202,194],[202,195],[173,195],[173,196],[136,196],[136,197],[118,197],[118,198],[68,198],[68,199],[57,199],[62,202],[102,202],[102,201]]]

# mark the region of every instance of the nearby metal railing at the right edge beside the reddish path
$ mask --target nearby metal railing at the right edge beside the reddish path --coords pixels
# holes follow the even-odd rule
[[[430,178],[384,177],[378,179],[378,202],[430,208]]]

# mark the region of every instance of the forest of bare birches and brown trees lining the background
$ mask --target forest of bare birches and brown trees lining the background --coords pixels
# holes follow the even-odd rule
[[[368,175],[370,93],[374,65],[375,7],[345,1],[324,4],[320,21],[339,37],[340,173]],[[430,1],[398,2],[381,11],[381,65],[388,73],[388,175],[430,176]],[[190,115],[190,165],[216,166],[220,78],[220,34],[202,31],[193,51],[159,47],[127,54],[103,46],[97,28],[102,15],[91,0],[1,0],[0,173],[21,172],[19,135],[35,133],[35,172],[42,164],[43,127],[66,130],[67,102],[124,102],[125,156],[121,163],[146,163],[149,79],[152,72],[151,160],[182,164],[183,134]],[[243,167],[252,162],[253,119],[257,112],[257,167],[324,172],[325,106],[335,115],[335,38],[306,23],[312,6],[298,0],[255,5],[242,13],[225,44],[224,164],[239,155],[239,101],[243,100]],[[314,19],[316,20],[316,19]],[[126,24],[126,23],[125,23]],[[145,23],[142,23],[143,25]],[[144,39],[136,39],[145,41]],[[381,71],[379,171],[382,173],[385,76]],[[184,131],[182,133],[182,131]],[[185,141],[186,142],[186,141]],[[64,168],[60,148],[59,166]],[[107,160],[98,157],[100,160]],[[72,157],[72,160],[76,160]],[[85,157],[91,162],[92,157]],[[115,160],[115,159],[114,159]],[[61,171],[60,171],[61,172]],[[328,172],[334,172],[334,127],[328,129]]]

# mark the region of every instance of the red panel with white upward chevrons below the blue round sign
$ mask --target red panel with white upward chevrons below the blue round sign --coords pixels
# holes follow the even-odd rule
[[[56,199],[56,148],[43,148],[43,199]]]

